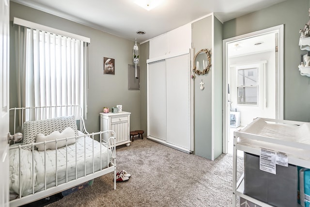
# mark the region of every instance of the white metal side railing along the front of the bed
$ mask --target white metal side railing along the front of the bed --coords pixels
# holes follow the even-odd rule
[[[12,200],[10,201],[10,207],[17,207],[17,206],[20,206],[20,205],[23,205],[23,204],[27,204],[27,203],[30,203],[30,202],[33,202],[33,201],[36,201],[36,200],[39,200],[41,198],[45,198],[49,195],[52,195],[52,194],[55,194],[55,193],[58,193],[58,192],[61,192],[61,191],[65,191],[67,189],[70,189],[72,187],[75,187],[81,183],[84,183],[86,181],[89,181],[91,179],[94,179],[96,177],[99,177],[101,175],[105,175],[107,173],[110,173],[110,172],[113,172],[114,171],[114,190],[116,189],[116,149],[115,149],[115,138],[114,137],[110,137],[108,142],[105,142],[102,138],[103,138],[103,134],[104,133],[109,133],[109,132],[113,132],[112,134],[115,134],[114,131],[112,130],[109,130],[109,131],[100,131],[100,132],[96,132],[96,133],[91,133],[91,134],[83,134],[83,135],[79,135],[79,136],[75,136],[75,137],[67,137],[67,138],[62,138],[62,139],[57,139],[57,140],[53,140],[53,141],[44,141],[44,142],[40,142],[40,143],[31,143],[31,144],[25,144],[25,145],[17,145],[17,146],[11,146],[10,147],[10,150],[13,150],[13,149],[18,149],[18,157],[19,157],[19,160],[21,160],[21,151],[23,150],[22,148],[23,147],[26,147],[26,146],[31,146],[31,153],[32,153],[32,175],[31,175],[31,179],[32,179],[32,194],[30,195],[26,195],[26,196],[22,196],[22,192],[21,192],[21,189],[23,188],[22,186],[22,182],[20,182],[21,180],[21,168],[22,168],[22,164],[21,162],[19,162],[19,195],[18,195],[18,198],[16,198],[15,200]],[[66,164],[66,176],[65,176],[65,182],[62,183],[62,184],[58,184],[58,174],[57,174],[57,160],[58,160],[58,155],[57,155],[57,151],[59,148],[57,148],[57,142],[59,141],[63,141],[65,140],[66,141],[66,146],[62,147],[62,148],[65,148],[65,153],[66,153],[66,163],[67,163],[67,154],[68,154],[68,145],[67,145],[67,142],[68,140],[70,139],[75,139],[77,141],[77,139],[84,139],[84,142],[85,142],[85,138],[88,136],[90,137],[94,142],[95,139],[94,137],[95,136],[99,136],[100,137],[100,140],[99,140],[99,143],[100,143],[100,169],[99,170],[95,170],[95,166],[94,166],[94,152],[93,152],[93,157],[92,157],[92,162],[93,162],[93,169],[92,169],[92,172],[87,174],[86,173],[86,150],[84,149],[84,175],[83,176],[79,176],[78,177],[78,160],[77,160],[77,148],[76,148],[76,161],[75,161],[75,169],[76,169],[76,175],[75,175],[75,179],[72,179],[72,180],[69,180],[68,179],[68,166]],[[55,159],[56,159],[56,174],[55,174],[55,186],[53,187],[50,187],[48,188],[47,187],[47,170],[46,170],[46,155],[47,155],[47,149],[46,149],[46,145],[47,143],[55,143],[56,144],[56,154],[55,154]],[[35,152],[35,146],[37,146],[38,144],[44,144],[44,148],[45,150],[42,151],[44,152],[45,154],[45,175],[44,175],[44,190],[43,191],[37,191],[35,192],[35,183],[34,183],[34,160],[33,160],[33,157],[34,157],[34,152]],[[84,144],[85,146],[85,144]],[[76,145],[77,147],[77,145]],[[111,153],[111,159],[109,160],[109,156],[107,156],[107,163],[108,166],[107,167],[103,167],[102,166],[102,161],[103,158],[102,156],[102,149],[103,147],[109,149],[108,150],[108,154],[109,152]]]

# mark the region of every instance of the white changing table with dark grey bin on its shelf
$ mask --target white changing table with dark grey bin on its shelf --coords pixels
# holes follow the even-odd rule
[[[303,128],[302,130],[302,128],[300,128],[303,126],[306,127],[308,124],[309,123],[297,121],[257,118],[248,126],[234,132],[233,207],[236,207],[237,205],[237,197],[246,199],[249,202],[259,205],[261,207],[272,207],[272,205],[254,199],[247,194],[244,194],[244,176],[242,175],[239,181],[237,181],[237,150],[241,150],[257,156],[260,155],[262,148],[273,150],[276,154],[278,152],[282,153],[281,155],[285,154],[288,158],[288,164],[310,168],[310,144],[305,143],[305,138],[307,138],[307,135],[309,134],[309,131],[307,130],[309,129],[305,130],[305,128]],[[296,131],[299,131],[299,133],[296,133]],[[298,141],[301,140],[301,138],[303,138],[304,141]],[[278,170],[277,173],[279,173]],[[261,181],[263,182],[263,180]],[[283,191],[283,188],[279,189],[279,191],[280,190]],[[296,192],[294,192],[293,196],[297,195]],[[298,207],[300,206],[297,204],[297,196],[296,205]]]

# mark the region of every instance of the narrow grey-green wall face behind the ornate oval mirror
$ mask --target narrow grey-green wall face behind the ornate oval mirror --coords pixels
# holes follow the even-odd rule
[[[192,44],[194,53],[199,50],[212,48],[212,16],[205,17],[192,24]],[[202,65],[201,65],[202,68]],[[194,79],[194,154],[204,158],[212,158],[212,73],[209,72]],[[200,82],[204,82],[204,90],[200,89]]]

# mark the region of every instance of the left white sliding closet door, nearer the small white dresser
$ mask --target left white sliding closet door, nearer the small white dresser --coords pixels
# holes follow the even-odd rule
[[[166,61],[149,64],[149,134],[166,140]]]

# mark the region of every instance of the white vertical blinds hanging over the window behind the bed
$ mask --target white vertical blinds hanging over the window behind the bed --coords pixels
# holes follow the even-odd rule
[[[20,82],[25,85],[25,103],[22,105],[24,107],[79,105],[84,110],[86,106],[84,78],[87,75],[85,51],[88,43],[29,28],[25,29],[24,35],[22,57],[24,61],[19,61],[24,66],[20,65],[22,69],[18,71],[20,74],[25,74],[24,83]],[[23,97],[23,90],[17,93],[20,93],[19,97]],[[35,116],[41,116],[42,119],[53,116],[46,114],[44,110],[41,113]],[[81,114],[76,115],[79,117]]]

